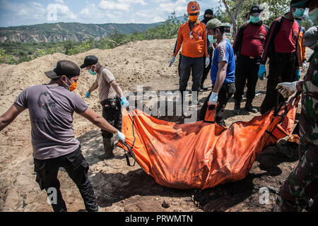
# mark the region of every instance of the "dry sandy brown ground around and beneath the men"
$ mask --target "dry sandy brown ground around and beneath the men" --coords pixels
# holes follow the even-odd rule
[[[136,85],[144,90],[177,90],[177,61],[167,67],[175,40],[153,40],[131,42],[116,49],[99,50],[75,56],[53,54],[13,65],[0,65],[0,114],[13,104],[18,94],[30,85],[49,82],[45,71],[54,68],[58,60],[69,59],[82,64],[83,59],[94,54],[114,73],[123,90],[136,91]],[[191,80],[191,79],[190,79]],[[86,91],[95,81],[94,76],[82,71],[76,93],[85,97]],[[210,88],[199,94],[200,105],[211,92]],[[191,88],[189,82],[188,88]],[[257,85],[260,94],[254,105],[259,109],[264,99],[266,81]],[[85,99],[96,112],[101,113],[97,92]],[[245,105],[243,99],[242,107]],[[226,109],[226,124],[235,121],[249,121],[259,114],[232,115],[234,101],[231,99]],[[182,123],[182,118],[163,119]],[[297,165],[297,157],[284,157],[275,147],[267,148],[240,182],[223,184],[213,189],[177,190],[156,184],[152,177],[139,165],[128,167],[124,151],[114,150],[112,160],[100,160],[103,153],[100,130],[74,114],[74,131],[81,141],[82,152],[90,165],[89,177],[103,211],[270,211],[276,192],[288,174]],[[60,169],[61,192],[69,211],[83,211],[84,205],[76,185],[69,179],[64,169]],[[271,194],[270,203],[259,203],[259,189],[266,186]],[[163,205],[168,203],[170,207]],[[163,207],[165,206],[165,208]],[[28,111],[23,112],[10,126],[0,133],[0,210],[1,211],[52,211],[47,204],[45,191],[40,191],[33,172],[32,146],[30,141],[30,119]]]

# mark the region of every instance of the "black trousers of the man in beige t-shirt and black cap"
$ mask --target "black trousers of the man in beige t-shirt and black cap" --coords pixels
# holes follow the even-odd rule
[[[112,104],[113,102],[113,104]],[[115,104],[114,104],[115,103]],[[122,107],[120,97],[117,95],[114,99],[104,100],[102,104],[102,117],[106,119],[114,128],[122,131]],[[102,131],[102,137],[112,138],[113,133]]]

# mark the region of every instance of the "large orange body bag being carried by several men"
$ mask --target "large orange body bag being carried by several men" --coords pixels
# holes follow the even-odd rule
[[[251,121],[238,121],[228,129],[213,121],[176,124],[155,119],[135,109],[123,110],[122,131],[136,161],[163,186],[207,189],[244,179],[261,150],[290,135],[300,97]],[[134,124],[134,129],[133,129]],[[123,143],[121,148],[129,152]]]

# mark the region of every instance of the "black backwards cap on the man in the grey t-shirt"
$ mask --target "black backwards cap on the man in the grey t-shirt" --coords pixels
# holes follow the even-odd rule
[[[54,80],[61,76],[68,78],[79,76],[80,73],[81,69],[72,61],[58,61],[54,70],[45,72],[45,75]]]

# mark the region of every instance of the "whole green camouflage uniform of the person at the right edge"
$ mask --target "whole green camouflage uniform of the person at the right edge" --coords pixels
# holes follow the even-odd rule
[[[301,85],[300,161],[281,186],[274,211],[300,212],[318,197],[318,47]]]

